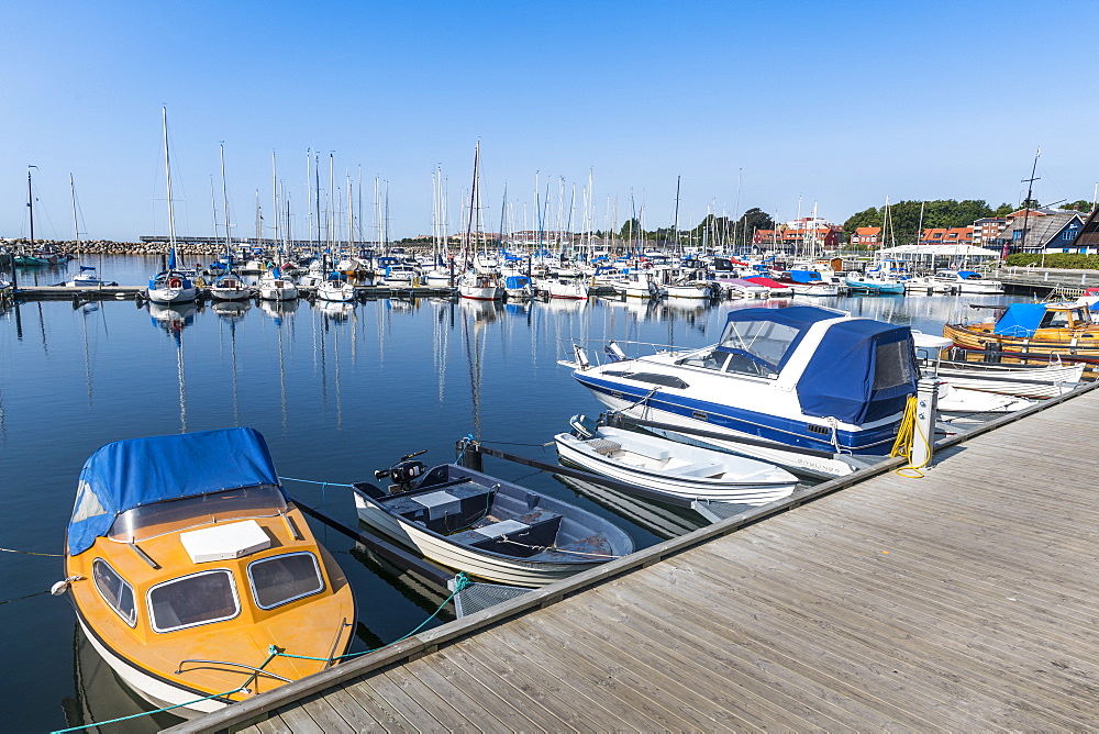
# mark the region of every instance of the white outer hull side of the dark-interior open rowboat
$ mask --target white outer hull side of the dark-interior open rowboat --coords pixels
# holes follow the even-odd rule
[[[447,543],[411,523],[397,520],[359,492],[355,492],[355,508],[358,511],[359,520],[386,537],[418,550],[424,558],[496,583],[523,587],[545,586],[593,568],[607,560],[601,558],[590,564],[574,563],[567,565],[541,563],[535,567],[535,564],[524,563],[519,558],[490,556],[456,543]]]

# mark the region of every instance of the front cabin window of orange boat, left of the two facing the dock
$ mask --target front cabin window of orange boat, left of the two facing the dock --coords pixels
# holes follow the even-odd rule
[[[225,569],[173,579],[148,590],[154,632],[231,620],[241,612],[233,575]]]

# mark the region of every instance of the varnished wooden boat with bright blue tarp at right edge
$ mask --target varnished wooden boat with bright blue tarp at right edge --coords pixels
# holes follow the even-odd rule
[[[996,320],[946,324],[943,336],[986,360],[1099,365],[1099,324],[1086,303],[1012,303]],[[1090,375],[1089,375],[1090,376]]]

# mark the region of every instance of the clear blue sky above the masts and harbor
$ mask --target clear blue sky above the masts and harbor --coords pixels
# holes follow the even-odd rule
[[[842,222],[888,196],[1090,199],[1099,180],[1099,4],[1022,2],[57,2],[0,0],[0,236],[212,234],[225,145],[235,231],[270,223],[271,152],[304,237],[306,152],[336,185],[388,181],[393,236],[451,230],[481,142],[487,229],[593,171],[597,227],[644,203],[650,229],[713,205]],[[357,205],[357,204],[356,204]],[[579,211],[579,208],[577,208]],[[736,212],[740,213],[740,212]],[[579,213],[576,215],[579,216]],[[574,230],[579,229],[574,222]]]

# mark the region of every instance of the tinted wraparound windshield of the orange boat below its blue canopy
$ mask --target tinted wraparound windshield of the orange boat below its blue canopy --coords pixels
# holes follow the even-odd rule
[[[271,485],[258,485],[127,510],[114,519],[108,536],[112,541],[137,543],[182,527],[241,518],[271,518],[284,512],[282,491]]]

